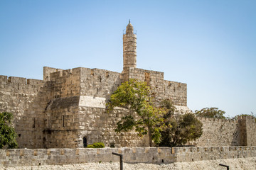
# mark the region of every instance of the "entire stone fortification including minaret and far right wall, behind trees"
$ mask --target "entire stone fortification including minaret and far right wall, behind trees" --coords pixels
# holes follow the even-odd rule
[[[76,148],[92,142],[106,146],[147,147],[147,137],[135,132],[114,132],[116,123],[127,113],[114,109],[106,113],[105,103],[122,81],[145,81],[156,104],[171,99],[180,113],[187,107],[187,85],[164,80],[163,72],[137,68],[137,37],[129,23],[123,35],[122,73],[103,69],[43,68],[43,80],[0,76],[0,112],[14,113],[14,127],[20,148]],[[197,146],[254,146],[255,121],[201,119],[203,136]]]

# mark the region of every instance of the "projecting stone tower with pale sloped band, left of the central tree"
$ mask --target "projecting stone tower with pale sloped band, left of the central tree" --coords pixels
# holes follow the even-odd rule
[[[119,73],[82,67],[58,72],[44,69],[53,86],[53,99],[46,109],[46,147],[84,147],[84,138],[87,144],[102,141],[107,146],[146,146],[148,142],[134,132],[120,136],[114,132],[127,111],[106,113],[106,101],[122,82]]]

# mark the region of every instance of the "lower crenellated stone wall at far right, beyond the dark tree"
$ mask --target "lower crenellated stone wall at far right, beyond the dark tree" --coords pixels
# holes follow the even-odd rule
[[[198,147],[256,146],[256,123],[251,116],[240,116],[238,120],[200,118],[203,135],[188,145]]]

